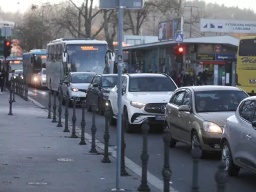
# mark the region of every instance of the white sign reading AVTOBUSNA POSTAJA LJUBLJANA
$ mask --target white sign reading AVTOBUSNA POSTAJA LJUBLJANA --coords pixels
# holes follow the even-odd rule
[[[256,33],[256,21],[200,19],[201,32]]]

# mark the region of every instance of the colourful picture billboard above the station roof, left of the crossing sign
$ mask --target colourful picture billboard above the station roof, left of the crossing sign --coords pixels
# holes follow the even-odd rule
[[[158,40],[168,40],[175,37],[175,33],[181,30],[181,18],[159,22]]]

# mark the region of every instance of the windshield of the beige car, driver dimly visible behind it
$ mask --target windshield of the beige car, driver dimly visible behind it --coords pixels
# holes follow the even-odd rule
[[[243,91],[195,92],[196,112],[236,111],[241,100],[248,97]]]

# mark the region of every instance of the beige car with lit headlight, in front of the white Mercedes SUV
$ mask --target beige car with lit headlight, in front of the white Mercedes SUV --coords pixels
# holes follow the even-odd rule
[[[205,152],[220,152],[225,120],[234,115],[241,100],[249,97],[232,86],[189,86],[178,88],[166,105],[165,129],[170,130],[170,147],[177,141],[193,148],[198,141]]]

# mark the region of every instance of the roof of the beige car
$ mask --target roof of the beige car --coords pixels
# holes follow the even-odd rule
[[[206,92],[206,91],[242,91],[236,86],[222,86],[222,85],[201,85],[201,86],[184,86],[181,88],[189,88],[193,92]]]

